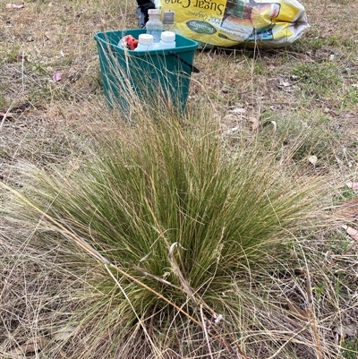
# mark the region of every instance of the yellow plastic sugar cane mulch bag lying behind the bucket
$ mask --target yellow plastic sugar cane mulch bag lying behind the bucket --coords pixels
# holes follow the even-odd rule
[[[203,46],[283,47],[309,26],[296,0],[158,0],[166,30]]]

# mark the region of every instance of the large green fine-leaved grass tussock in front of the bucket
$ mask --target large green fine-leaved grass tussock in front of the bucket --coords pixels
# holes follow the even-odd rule
[[[306,324],[297,331],[257,293],[294,235],[324,224],[322,184],[295,177],[255,141],[227,153],[199,110],[107,125],[90,161],[71,175],[32,172],[17,193],[16,216],[86,284],[68,286],[64,322],[75,329],[52,355],[270,357],[292,353],[287,343],[300,336],[314,348]]]

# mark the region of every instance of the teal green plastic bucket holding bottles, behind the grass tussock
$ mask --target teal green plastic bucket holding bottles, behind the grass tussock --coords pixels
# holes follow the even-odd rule
[[[133,96],[143,105],[174,106],[183,111],[189,94],[193,59],[198,43],[176,35],[174,49],[131,51],[118,47],[121,38],[138,38],[144,29],[98,32],[101,77],[107,105],[130,111]]]

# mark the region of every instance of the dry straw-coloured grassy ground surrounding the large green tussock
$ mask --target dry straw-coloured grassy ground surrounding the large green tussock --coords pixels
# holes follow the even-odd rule
[[[320,175],[331,200],[341,204],[356,198],[344,184],[355,181],[358,170],[358,5],[338,0],[303,4],[311,29],[290,48],[198,52],[195,64],[202,71],[192,75],[188,109],[203,107],[220,120],[232,151],[243,137],[251,139],[251,125],[258,123],[255,139],[285,158],[286,170],[299,164],[304,176]],[[26,192],[23,172],[29,163],[69,175],[91,157],[93,132],[115,128],[100,87],[93,33],[135,27],[135,4],[33,1],[19,10],[0,5],[0,113],[10,114],[0,117],[0,179]],[[62,73],[59,82],[51,81],[55,71]],[[295,157],[286,157],[292,152]],[[316,166],[307,161],[311,155],[319,158]],[[60,236],[50,246],[40,222],[38,228],[23,227],[8,216],[12,199],[0,191],[0,356],[105,357],[118,330],[115,324],[112,332],[96,338],[96,323],[83,323],[90,314],[100,318],[115,300],[108,285],[107,292],[102,288],[107,295],[103,307],[84,310],[101,297],[91,289],[93,282],[107,283],[107,270],[94,261],[89,265],[87,254],[63,245]],[[346,219],[358,226],[350,207],[345,210],[342,224]],[[234,278],[247,311],[226,311],[242,323],[231,334],[243,353],[251,358],[357,357],[357,243],[334,218],[332,214],[331,227],[320,231],[302,228],[290,255],[277,253],[269,266]],[[243,291],[248,283],[250,291]],[[199,321],[208,315],[198,313]],[[153,321],[166,316],[165,311],[154,314]],[[225,323],[217,329],[220,334],[230,332],[226,326],[230,328]],[[157,357],[243,357],[180,317],[166,328],[152,323],[148,330],[165,336],[154,343]],[[106,357],[153,353],[140,324],[128,337],[128,346],[115,350],[114,342]]]

